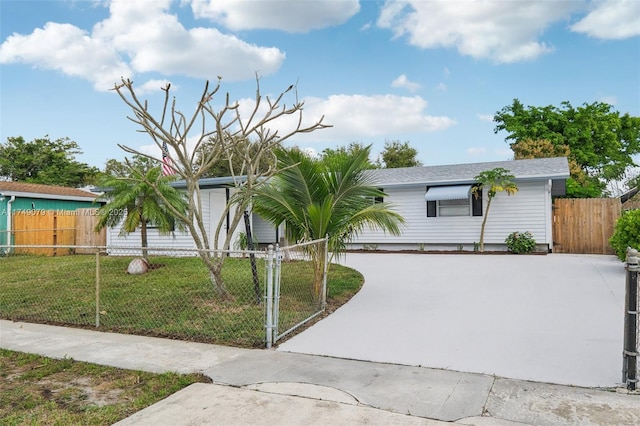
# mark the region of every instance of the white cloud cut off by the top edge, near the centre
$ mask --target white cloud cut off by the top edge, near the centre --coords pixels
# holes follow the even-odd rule
[[[191,0],[193,14],[231,30],[304,33],[343,24],[360,11],[358,0]]]

